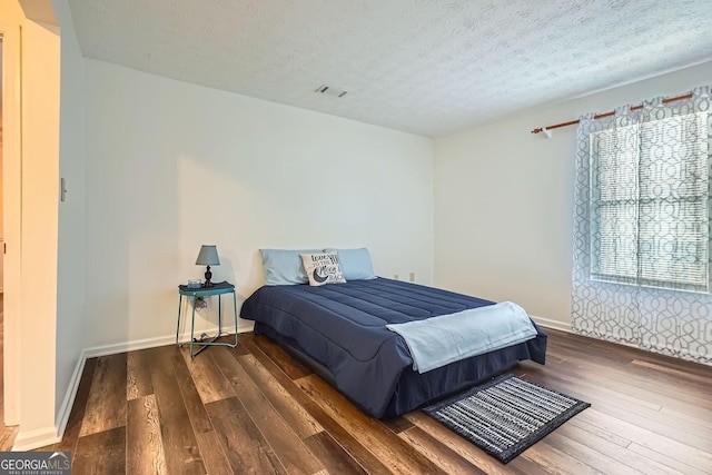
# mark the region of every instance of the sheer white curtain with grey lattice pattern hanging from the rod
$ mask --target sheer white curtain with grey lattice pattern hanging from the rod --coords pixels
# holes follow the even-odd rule
[[[712,365],[712,99],[581,118],[575,333]]]

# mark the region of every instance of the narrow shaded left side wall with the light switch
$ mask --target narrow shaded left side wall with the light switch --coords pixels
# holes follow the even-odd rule
[[[72,372],[86,347],[85,78],[83,58],[69,6],[61,0],[53,3],[61,28],[59,174],[66,179],[68,190],[66,200],[59,202],[55,413],[60,414]]]

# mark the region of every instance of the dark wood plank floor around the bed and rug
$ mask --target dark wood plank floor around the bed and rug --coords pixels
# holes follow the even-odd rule
[[[592,403],[507,465],[415,410],[365,416],[269,339],[87,362],[65,439],[77,475],[712,473],[712,368],[548,330],[514,373]]]

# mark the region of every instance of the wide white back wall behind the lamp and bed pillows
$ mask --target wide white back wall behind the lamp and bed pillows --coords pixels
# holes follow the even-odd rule
[[[218,246],[212,279],[238,304],[263,283],[261,247],[366,246],[378,274],[432,283],[431,139],[90,59],[85,71],[88,346],[175,334],[201,244]]]

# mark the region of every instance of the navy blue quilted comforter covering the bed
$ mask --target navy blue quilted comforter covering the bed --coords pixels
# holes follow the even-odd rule
[[[390,418],[461,392],[531,359],[544,364],[546,334],[419,373],[388,324],[494,305],[422,285],[372,278],[345,284],[266,285],[243,305],[255,334],[287,347],[365,413]],[[528,317],[527,317],[528,318]]]

